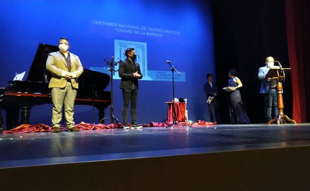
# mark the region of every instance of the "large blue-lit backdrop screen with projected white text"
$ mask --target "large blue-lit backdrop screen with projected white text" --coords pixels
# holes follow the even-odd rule
[[[106,72],[105,57],[124,59],[124,50],[134,47],[144,74],[139,82],[139,123],[166,120],[164,102],[172,99],[167,60],[181,72],[174,75],[175,95],[187,98],[189,120],[209,121],[203,90],[206,74],[215,74],[209,0],[1,0],[0,14],[0,87],[6,87],[15,72],[26,71],[26,78],[39,43],[57,45],[60,37],[66,37],[83,67],[100,72]],[[114,112],[121,121],[118,73],[114,79]],[[50,104],[35,106],[31,112],[32,124],[51,124]],[[76,123],[91,120],[91,107],[75,106]]]

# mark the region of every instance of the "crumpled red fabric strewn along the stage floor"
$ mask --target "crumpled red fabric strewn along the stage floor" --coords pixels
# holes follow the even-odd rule
[[[205,122],[205,121],[200,121],[198,120],[194,124],[186,123],[186,122],[181,122],[179,123],[181,125],[190,125],[192,127],[202,127],[202,126],[212,126],[212,125],[217,125],[216,123],[211,123],[211,122]],[[128,124],[130,126],[130,124]],[[143,124],[140,126],[143,127],[167,127],[169,124],[167,123],[156,123],[156,122],[151,122],[150,124]],[[174,127],[181,127],[181,125],[175,125]],[[80,124],[75,125],[80,130],[98,130],[98,129],[109,129],[109,128],[122,128],[123,124],[87,124],[84,122],[81,122]],[[18,126],[16,128],[13,128],[11,130],[4,130],[2,133],[7,134],[7,133],[25,133],[25,132],[52,132],[53,128],[44,125],[44,124],[36,124],[36,125],[29,125],[29,124],[24,124],[21,126]],[[61,131],[67,130],[67,127],[60,127]]]

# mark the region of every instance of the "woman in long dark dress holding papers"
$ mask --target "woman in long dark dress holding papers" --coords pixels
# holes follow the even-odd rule
[[[230,116],[232,124],[249,124],[250,120],[247,117],[246,111],[243,106],[241,94],[239,88],[242,87],[242,83],[237,75],[237,71],[232,69],[229,71],[230,80],[228,82],[230,91]]]

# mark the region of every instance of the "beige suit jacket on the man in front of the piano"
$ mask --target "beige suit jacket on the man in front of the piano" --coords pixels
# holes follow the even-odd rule
[[[83,72],[83,66],[77,55],[72,53],[69,54],[71,59],[71,72],[77,76],[77,78],[71,79],[71,83],[74,88],[78,88],[78,77]],[[62,73],[68,71],[68,67],[64,56],[59,51],[49,54],[46,61],[46,69],[51,72],[49,88],[63,88],[67,85],[67,80],[62,77]]]

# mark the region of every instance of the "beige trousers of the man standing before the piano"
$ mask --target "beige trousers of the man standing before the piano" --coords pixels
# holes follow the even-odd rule
[[[77,96],[77,89],[72,87],[70,82],[67,82],[64,88],[52,88],[52,102],[53,102],[53,116],[52,126],[60,127],[60,121],[62,119],[62,108],[64,105],[65,118],[68,128],[74,127],[73,120],[74,114],[74,102]]]

